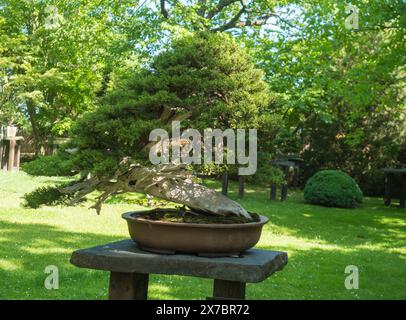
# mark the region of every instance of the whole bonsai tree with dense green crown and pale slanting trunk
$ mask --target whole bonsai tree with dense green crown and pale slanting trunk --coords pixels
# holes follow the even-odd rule
[[[149,134],[182,121],[188,128],[258,128],[269,105],[263,74],[247,52],[224,33],[197,33],[173,41],[148,68],[113,77],[100,107],[77,121],[70,153],[82,179],[41,189],[71,203],[100,191],[96,204],[112,194],[140,192],[184,204],[194,212],[250,215],[238,203],[193,182],[182,164],[152,166]],[[172,141],[176,143],[176,141]]]

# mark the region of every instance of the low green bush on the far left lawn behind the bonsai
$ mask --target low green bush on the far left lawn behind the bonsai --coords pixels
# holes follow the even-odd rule
[[[59,154],[44,156],[24,163],[22,170],[33,176],[72,176],[71,162]]]

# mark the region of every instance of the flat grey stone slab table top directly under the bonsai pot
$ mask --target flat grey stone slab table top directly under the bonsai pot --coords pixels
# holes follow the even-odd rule
[[[240,282],[261,282],[288,262],[286,252],[250,249],[242,257],[199,257],[146,252],[132,240],[77,250],[70,262],[80,268],[123,273],[167,274]]]

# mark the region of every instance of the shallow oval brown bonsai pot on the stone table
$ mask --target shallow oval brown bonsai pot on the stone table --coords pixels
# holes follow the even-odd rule
[[[182,223],[140,217],[152,211],[127,212],[131,238],[146,251],[174,254],[197,253],[205,256],[238,255],[255,246],[268,218],[249,223]]]

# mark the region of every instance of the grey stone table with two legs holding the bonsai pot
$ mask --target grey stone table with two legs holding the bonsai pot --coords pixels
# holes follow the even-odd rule
[[[80,268],[109,271],[110,300],[147,299],[149,274],[211,278],[213,297],[208,299],[245,299],[245,284],[264,281],[282,270],[288,255],[259,249],[247,250],[238,258],[165,255],[143,251],[134,241],[123,240],[75,251],[70,262]]]

